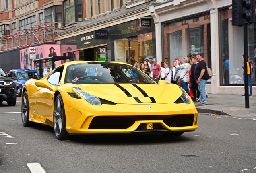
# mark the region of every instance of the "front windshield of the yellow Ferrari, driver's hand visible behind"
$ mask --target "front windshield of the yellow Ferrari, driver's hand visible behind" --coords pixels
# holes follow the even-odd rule
[[[129,64],[89,62],[67,67],[64,83],[143,83],[155,84],[149,76]]]

